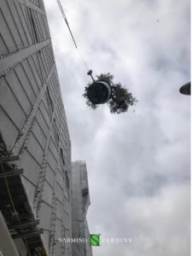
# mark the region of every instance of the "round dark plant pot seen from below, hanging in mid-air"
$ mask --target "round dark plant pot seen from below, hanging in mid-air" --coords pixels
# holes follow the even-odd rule
[[[90,84],[87,92],[90,102],[94,104],[103,104],[108,102],[111,94],[111,86],[104,81],[93,82],[93,84]]]

